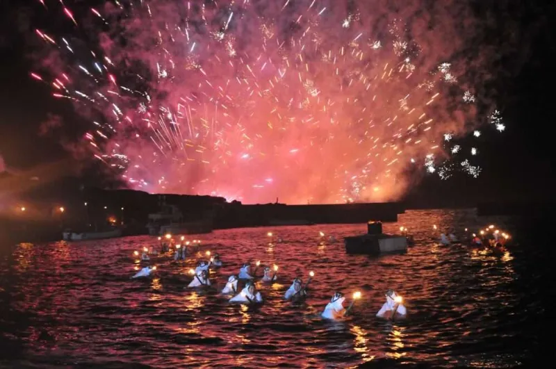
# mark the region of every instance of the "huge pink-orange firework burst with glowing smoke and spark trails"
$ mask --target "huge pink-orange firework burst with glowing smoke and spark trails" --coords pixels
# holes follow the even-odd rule
[[[391,3],[51,3],[52,17],[96,25],[98,42],[85,52],[36,33],[67,63],[49,68],[55,96],[104,115],[92,156],[132,187],[246,202],[386,200],[407,189],[411,165],[444,179],[480,173],[476,149],[455,143],[480,122],[466,65],[452,60],[466,41],[451,26],[461,8]],[[31,76],[49,83],[42,69]],[[490,122],[505,129],[498,111]]]

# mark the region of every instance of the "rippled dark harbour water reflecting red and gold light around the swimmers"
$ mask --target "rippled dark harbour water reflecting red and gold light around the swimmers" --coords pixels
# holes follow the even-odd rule
[[[215,291],[183,290],[186,263],[156,259],[156,277],[130,280],[139,268],[133,250],[155,244],[147,236],[84,243],[2,247],[0,366],[103,367],[323,367],[395,364],[508,368],[528,361],[540,344],[545,310],[540,276],[530,257],[502,255],[432,240],[432,224],[483,226],[473,211],[412,211],[385,231],[409,228],[407,254],[348,256],[343,243],[324,243],[319,231],[341,237],[365,224],[232,229],[199,236],[202,254],[220,253],[211,273],[222,288],[241,263],[279,265],[279,284],[259,285],[260,308],[231,305]],[[498,220],[503,226],[504,220]],[[286,243],[268,245],[268,231]],[[192,237],[194,238],[194,237]],[[284,302],[293,277],[316,272],[304,304]],[[261,271],[259,271],[260,273]],[[404,322],[375,318],[384,291],[407,300]],[[362,299],[345,322],[320,312],[335,290]],[[348,299],[349,300],[349,299]]]

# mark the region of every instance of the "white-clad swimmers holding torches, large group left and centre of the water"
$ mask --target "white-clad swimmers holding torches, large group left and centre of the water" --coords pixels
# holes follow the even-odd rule
[[[146,249],[146,248],[145,248]],[[153,251],[152,249],[150,251]],[[170,251],[170,249],[168,249]],[[176,245],[176,252],[174,253],[174,260],[185,260],[185,255],[187,252],[187,247],[179,247]],[[136,255],[138,253],[136,252]],[[144,251],[143,254],[146,254]],[[206,252],[210,256],[210,252]],[[148,255],[147,255],[148,256]],[[195,269],[190,269],[189,274],[193,276],[193,279],[188,284],[187,288],[207,288],[211,286],[211,281],[208,278],[208,271],[210,268],[220,268],[222,266],[222,261],[220,256],[215,254],[211,257],[210,261],[200,261]],[[229,296],[229,302],[238,304],[262,304],[263,296],[256,289],[254,284],[254,279],[256,278],[256,271],[260,266],[260,261],[256,262],[256,268],[252,270],[250,263],[244,263],[238,275],[231,275],[227,279],[227,283],[221,290],[222,295]],[[137,272],[132,278],[140,277],[150,277],[152,272],[156,270],[156,266],[147,265]],[[263,275],[261,277],[261,282],[266,284],[272,284],[277,281],[277,270],[278,266],[274,265],[273,268],[266,266],[263,269]],[[295,278],[291,286],[284,293],[284,299],[297,302],[303,300],[307,296],[307,286],[311,282],[314,273],[309,273],[309,279],[303,284],[302,279]],[[238,283],[240,281],[245,282],[245,286],[242,290],[238,292]],[[361,293],[354,293],[353,301],[347,309],[343,306],[345,302],[345,296],[341,292],[334,293],[330,302],[325,306],[325,310],[322,311],[322,318],[338,320],[343,318],[350,312],[355,300],[361,296]],[[405,318],[407,315],[407,310],[402,304],[402,297],[398,296],[395,291],[387,290],[386,302],[382,306],[382,309],[377,313],[379,318],[385,319],[401,319]]]

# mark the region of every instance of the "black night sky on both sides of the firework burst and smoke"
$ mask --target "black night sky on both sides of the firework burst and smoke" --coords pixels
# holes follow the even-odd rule
[[[31,62],[26,57],[23,32],[32,27],[22,8],[10,6],[10,3],[24,5],[28,1],[2,1],[0,5],[0,47],[3,50],[0,58],[0,156],[12,172],[33,172],[44,165],[54,165],[56,175],[72,174],[73,165],[68,165],[68,160],[72,163],[70,155],[60,145],[60,139],[65,138],[42,136],[40,126],[48,120],[49,114],[62,115],[65,122],[76,122],[73,128],[65,124],[63,135],[72,138],[82,133],[79,118],[72,113],[67,101],[51,97],[47,85],[29,77]],[[503,1],[490,3],[500,6]],[[536,0],[529,1],[524,8],[509,8],[500,13],[498,27],[512,24],[506,23],[505,17],[519,22],[521,26],[516,27],[516,33],[521,35],[523,47],[502,58],[495,71],[498,74],[497,103],[506,131],[493,135],[489,146],[482,148],[484,170],[480,177],[455,176],[448,181],[429,177],[414,188],[412,198],[426,202],[439,197],[458,197],[470,203],[554,198],[555,9],[555,1]],[[496,39],[496,34],[493,38]]]

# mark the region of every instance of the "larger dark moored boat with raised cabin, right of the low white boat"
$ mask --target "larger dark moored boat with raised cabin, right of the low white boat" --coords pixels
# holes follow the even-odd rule
[[[184,221],[183,213],[175,205],[161,202],[160,211],[149,214],[147,229],[151,236],[170,234],[198,234],[211,233],[213,223],[211,220]]]

